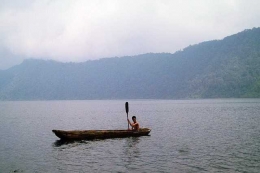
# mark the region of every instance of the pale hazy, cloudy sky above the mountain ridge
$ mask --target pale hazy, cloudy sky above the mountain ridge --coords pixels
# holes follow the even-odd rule
[[[260,26],[259,0],[0,0],[0,69],[174,53]]]

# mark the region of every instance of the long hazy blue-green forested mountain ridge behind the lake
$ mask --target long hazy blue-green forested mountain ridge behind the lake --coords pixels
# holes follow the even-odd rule
[[[260,28],[189,46],[84,63],[25,60],[0,71],[1,100],[260,97]]]

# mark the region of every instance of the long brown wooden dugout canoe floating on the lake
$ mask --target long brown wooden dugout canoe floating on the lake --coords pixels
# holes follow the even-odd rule
[[[139,131],[133,130],[52,130],[57,137],[63,140],[91,140],[91,139],[107,139],[107,138],[126,138],[148,136],[150,133],[148,128],[140,128]]]

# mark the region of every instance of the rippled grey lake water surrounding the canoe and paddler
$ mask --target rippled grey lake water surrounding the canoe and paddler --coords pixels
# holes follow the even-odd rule
[[[0,102],[0,172],[260,172],[260,99],[127,101],[150,136],[51,131],[126,129],[124,100]]]

